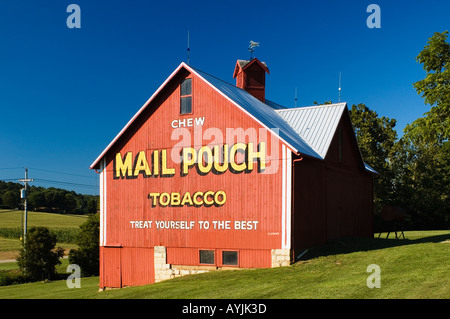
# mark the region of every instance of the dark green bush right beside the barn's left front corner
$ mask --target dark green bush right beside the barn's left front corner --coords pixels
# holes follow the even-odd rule
[[[96,276],[100,267],[100,215],[98,213],[90,215],[80,226],[80,230],[76,239],[79,249],[70,250],[69,262],[79,265],[84,276]]]

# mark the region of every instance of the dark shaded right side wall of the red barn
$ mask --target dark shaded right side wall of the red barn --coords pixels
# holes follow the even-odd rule
[[[324,244],[328,239],[373,235],[372,176],[360,166],[347,115],[344,113],[338,125],[325,161],[307,157],[294,161],[296,250]]]

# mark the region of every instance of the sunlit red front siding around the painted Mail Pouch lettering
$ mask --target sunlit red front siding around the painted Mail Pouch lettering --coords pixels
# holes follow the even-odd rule
[[[187,74],[184,74],[187,75]],[[281,143],[266,130],[260,131],[260,125],[238,107],[218,94],[205,82],[194,75],[192,77],[192,114],[180,115],[179,82],[182,77],[174,77],[160,96],[153,101],[142,118],[133,124],[133,129],[124,134],[107,156],[107,222],[106,242],[120,242],[123,247],[203,247],[224,249],[272,249],[281,248]],[[173,120],[205,117],[203,126],[187,127],[191,139],[181,143],[178,136],[172,138]],[[218,128],[224,141],[208,139],[207,134]],[[257,133],[257,138],[247,137],[226,140],[227,128],[243,128]],[[208,131],[208,129],[210,129]],[[259,135],[260,132],[264,134]],[[202,136],[203,141],[196,140]],[[175,138],[175,140],[174,140]],[[262,174],[256,168],[251,172],[232,173],[230,170],[216,175],[212,172],[199,175],[195,168],[187,176],[180,176],[180,164],[174,163],[170,152],[179,153],[181,147],[192,144],[195,149],[211,145],[232,145],[236,142],[266,143],[267,153],[273,155],[268,168],[277,168],[273,174]],[[175,147],[176,146],[176,147]],[[191,146],[191,145],[189,145]],[[176,168],[172,177],[149,177],[139,175],[136,179],[115,179],[113,174],[114,157],[117,152],[124,156],[127,152],[134,156],[142,150],[151,154],[153,150],[168,152],[168,167]],[[256,149],[255,149],[256,150]],[[148,155],[150,157],[151,155]],[[257,166],[257,162],[254,163]],[[271,166],[270,166],[271,165]],[[268,169],[266,171],[269,171]],[[152,192],[177,192],[184,194],[195,191],[222,190],[227,201],[220,207],[152,207],[148,194]],[[194,221],[196,229],[132,229],[130,221]],[[208,230],[198,230],[200,221],[209,221]],[[214,229],[212,221],[257,221],[257,230]]]

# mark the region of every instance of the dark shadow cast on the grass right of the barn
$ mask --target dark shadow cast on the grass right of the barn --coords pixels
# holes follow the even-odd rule
[[[403,238],[403,237],[402,237]],[[389,239],[389,238],[340,238],[329,240],[322,246],[312,247],[297,259],[297,261],[309,260],[321,256],[349,254],[358,251],[377,250],[405,245],[422,243],[439,243],[450,240],[450,234],[428,236],[418,239]],[[301,252],[297,253],[299,255]]]

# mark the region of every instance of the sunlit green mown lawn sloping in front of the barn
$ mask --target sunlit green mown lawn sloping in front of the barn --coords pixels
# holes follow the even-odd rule
[[[449,299],[450,231],[405,236],[334,241],[289,267],[217,271],[104,292],[98,277],[82,278],[79,289],[68,289],[65,280],[39,282],[0,287],[0,298]],[[381,269],[381,288],[367,287],[370,264]]]

